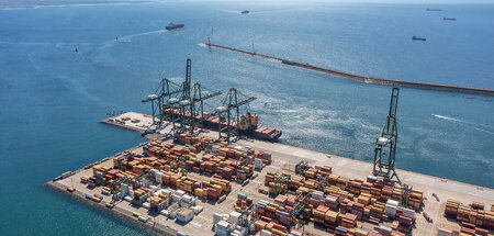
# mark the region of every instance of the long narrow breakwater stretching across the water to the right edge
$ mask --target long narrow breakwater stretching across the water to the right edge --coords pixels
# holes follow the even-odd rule
[[[471,94],[494,97],[494,89],[377,78],[377,77],[362,76],[362,75],[357,75],[357,74],[352,74],[352,72],[340,71],[340,70],[336,70],[336,69],[329,69],[329,68],[319,67],[319,66],[301,63],[301,61],[296,61],[296,60],[283,59],[283,58],[278,58],[278,57],[273,57],[273,56],[257,54],[255,52],[247,52],[247,50],[237,49],[237,48],[233,48],[233,47],[221,46],[221,45],[216,45],[216,44],[201,43],[199,45],[204,46],[204,47],[210,47],[210,48],[227,50],[227,52],[232,52],[232,53],[249,55],[252,57],[267,59],[267,60],[270,60],[273,63],[281,63],[281,64],[284,64],[288,66],[293,66],[293,67],[299,67],[302,69],[328,74],[332,76],[338,76],[341,78],[351,79],[351,80],[355,80],[358,82],[363,82],[363,83],[373,83],[373,85],[393,86],[393,87],[407,87],[407,88],[416,88],[416,89],[428,89],[428,90],[438,90],[438,91],[447,91],[447,92],[471,93]]]

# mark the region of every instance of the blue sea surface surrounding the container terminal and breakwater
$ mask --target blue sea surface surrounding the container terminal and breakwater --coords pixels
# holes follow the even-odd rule
[[[239,13],[246,9],[251,13]],[[169,22],[186,27],[165,31]],[[220,45],[494,89],[494,4],[168,1],[0,10],[0,235],[146,234],[42,184],[144,142],[98,121],[109,111],[149,113],[141,100],[164,76],[180,81],[187,58],[192,82],[257,97],[246,109],[282,130],[281,143],[372,160],[391,87],[198,46],[212,27]],[[494,188],[494,102],[483,99],[401,89],[396,166]]]

